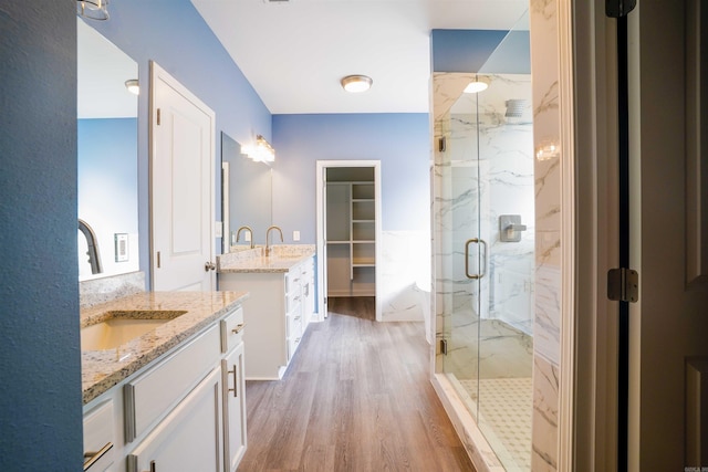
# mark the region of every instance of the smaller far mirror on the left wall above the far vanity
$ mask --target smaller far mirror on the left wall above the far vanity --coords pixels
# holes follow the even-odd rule
[[[240,240],[236,241],[236,233],[240,227],[253,230],[253,243],[266,244],[266,231],[272,224],[272,170],[264,162],[257,162],[241,154],[241,145],[226,133],[221,133],[221,161],[228,162],[229,208],[225,214],[225,228],[229,228],[229,242],[226,247],[236,250],[250,247],[246,240],[248,231],[241,231]],[[225,186],[227,182],[225,182]],[[227,219],[228,218],[228,219]],[[226,252],[226,250],[225,250]]]

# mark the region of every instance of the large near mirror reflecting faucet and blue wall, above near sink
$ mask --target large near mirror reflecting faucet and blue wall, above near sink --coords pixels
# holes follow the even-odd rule
[[[80,281],[139,270],[137,63],[77,18]],[[126,84],[127,82],[127,84]]]

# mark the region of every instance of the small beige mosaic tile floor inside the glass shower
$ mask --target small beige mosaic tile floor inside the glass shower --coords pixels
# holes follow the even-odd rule
[[[479,426],[507,471],[531,470],[531,377],[458,380],[479,405]]]

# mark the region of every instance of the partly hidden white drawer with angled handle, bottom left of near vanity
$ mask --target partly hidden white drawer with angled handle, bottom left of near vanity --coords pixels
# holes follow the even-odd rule
[[[84,470],[98,472],[113,464],[115,426],[113,400],[84,415]]]

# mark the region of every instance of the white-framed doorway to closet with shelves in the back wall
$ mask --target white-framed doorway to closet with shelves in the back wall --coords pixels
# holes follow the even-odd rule
[[[381,321],[381,161],[319,160],[316,179],[319,317],[331,296],[373,296]]]

